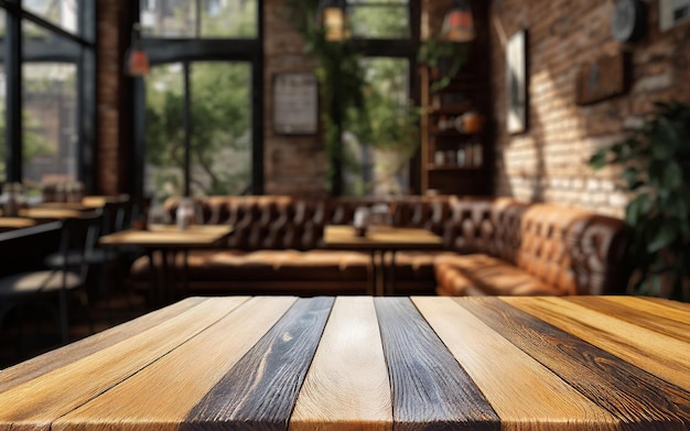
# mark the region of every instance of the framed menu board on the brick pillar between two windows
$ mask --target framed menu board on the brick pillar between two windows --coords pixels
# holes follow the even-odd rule
[[[310,73],[273,75],[273,131],[314,134],[319,128],[319,84]]]

